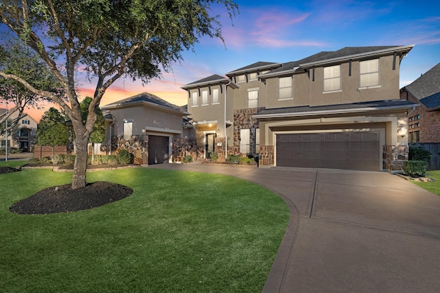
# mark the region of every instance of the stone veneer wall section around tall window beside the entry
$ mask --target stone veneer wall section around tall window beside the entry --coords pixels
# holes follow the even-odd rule
[[[250,129],[250,146],[249,152],[256,154],[255,145],[255,129],[260,127],[259,121],[254,119],[254,115],[264,108],[248,108],[234,110],[234,145],[232,145],[232,152],[235,154],[240,152],[240,130]]]

